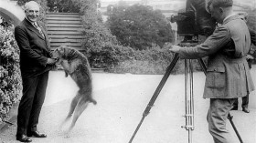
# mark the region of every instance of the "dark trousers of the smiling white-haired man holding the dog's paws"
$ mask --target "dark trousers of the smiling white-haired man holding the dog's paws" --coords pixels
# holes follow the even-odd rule
[[[43,106],[48,85],[48,72],[37,77],[22,77],[23,96],[17,113],[16,135],[36,131],[38,118]]]

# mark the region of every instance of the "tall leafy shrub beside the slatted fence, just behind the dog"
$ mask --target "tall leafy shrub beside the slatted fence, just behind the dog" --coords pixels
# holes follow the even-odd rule
[[[85,50],[84,54],[88,56],[91,67],[112,68],[117,65],[119,58],[121,58],[119,50],[126,49],[117,45],[115,36],[112,36],[110,30],[103,25],[101,13],[96,10],[99,1],[73,0],[73,2],[80,5],[85,37],[82,42],[82,49]]]

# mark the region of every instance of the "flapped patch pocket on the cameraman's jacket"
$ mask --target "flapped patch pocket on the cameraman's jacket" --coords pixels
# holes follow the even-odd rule
[[[224,67],[210,67],[207,71],[206,87],[223,88],[226,86]]]

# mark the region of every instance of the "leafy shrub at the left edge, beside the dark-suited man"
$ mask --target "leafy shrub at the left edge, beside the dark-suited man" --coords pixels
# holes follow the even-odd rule
[[[0,26],[0,123],[21,96],[19,49],[13,32]]]

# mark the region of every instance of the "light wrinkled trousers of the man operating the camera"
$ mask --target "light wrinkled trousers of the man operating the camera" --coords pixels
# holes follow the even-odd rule
[[[233,143],[229,130],[226,128],[229,111],[235,98],[211,98],[208,109],[208,130],[214,143]]]

